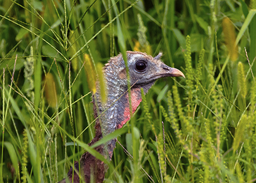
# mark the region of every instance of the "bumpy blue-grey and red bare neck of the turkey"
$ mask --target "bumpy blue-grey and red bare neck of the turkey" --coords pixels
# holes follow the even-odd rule
[[[116,58],[119,59],[119,58]],[[101,102],[100,89],[92,97],[94,103],[94,117],[97,118],[95,129],[96,133],[101,133],[102,136],[107,136],[115,130],[120,129],[130,119],[130,103],[127,88],[126,71],[119,70],[112,62],[108,63],[104,70],[105,83],[107,89],[107,101]],[[140,88],[144,92],[148,92],[154,82],[146,85],[134,84],[131,91],[132,113],[142,101]],[[107,142],[107,150],[109,158],[113,154],[116,146],[116,138]],[[106,147],[106,146],[105,146]]]

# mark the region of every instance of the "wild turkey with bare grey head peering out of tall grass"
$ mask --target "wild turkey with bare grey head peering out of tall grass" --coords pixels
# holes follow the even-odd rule
[[[146,93],[154,84],[156,79],[168,76],[184,76],[184,74],[175,68],[170,68],[161,62],[162,53],[152,57],[141,52],[126,52],[127,66],[130,74],[132,113],[142,101],[141,88]],[[95,137],[89,143],[89,146],[100,140],[107,134],[112,133],[116,129],[120,129],[130,119],[130,105],[126,77],[126,65],[122,54],[111,57],[104,68],[104,77],[107,88],[107,101],[101,102],[100,92],[96,92],[92,97],[94,103],[94,117],[99,118],[95,124]],[[97,105],[96,105],[97,103]],[[111,160],[113,150],[116,147],[117,139],[108,141],[105,145],[95,147],[97,152],[101,153],[105,158]],[[60,182],[79,182],[79,179],[89,182],[103,182],[105,172],[108,166],[101,160],[96,159],[90,153],[85,152],[80,159],[81,177],[79,172],[79,163],[75,163],[75,169],[71,168],[68,172],[68,179]],[[72,175],[73,174],[73,175]]]

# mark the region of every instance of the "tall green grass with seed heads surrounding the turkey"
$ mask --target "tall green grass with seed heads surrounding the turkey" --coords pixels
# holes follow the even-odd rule
[[[1,182],[60,181],[85,150],[110,166],[105,182],[256,181],[254,8],[0,1]],[[161,51],[186,79],[152,86],[132,120],[102,140],[118,139],[108,162],[87,145],[91,91],[100,65],[125,50]]]

